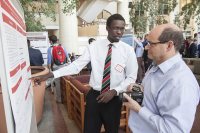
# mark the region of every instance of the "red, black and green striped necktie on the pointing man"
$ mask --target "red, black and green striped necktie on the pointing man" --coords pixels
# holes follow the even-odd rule
[[[104,93],[110,89],[110,70],[111,70],[112,46],[113,46],[113,44],[109,44],[109,49],[108,49],[108,53],[107,53],[106,60],[105,60],[101,93]]]

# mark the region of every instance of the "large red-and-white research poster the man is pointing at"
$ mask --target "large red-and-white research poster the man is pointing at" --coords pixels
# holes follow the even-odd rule
[[[30,63],[23,10],[17,0],[0,0],[0,61],[4,65],[15,133],[29,133],[32,116],[32,87]],[[8,101],[7,101],[8,102]]]

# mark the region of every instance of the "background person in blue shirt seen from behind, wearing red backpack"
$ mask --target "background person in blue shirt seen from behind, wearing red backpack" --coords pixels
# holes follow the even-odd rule
[[[62,47],[61,44],[58,43],[57,36],[52,35],[52,36],[50,36],[49,40],[50,40],[51,46],[47,50],[47,65],[48,65],[49,70],[55,71],[59,68],[66,66],[67,63],[69,63],[71,61],[69,59],[69,55],[68,55],[67,51],[65,50],[65,48]],[[55,63],[55,60],[54,60],[54,57],[53,57],[54,46],[61,46],[63,48],[64,54],[65,54],[65,57],[66,57],[66,62],[62,65],[58,65],[58,64]],[[55,96],[55,99],[56,99],[57,102],[61,102],[61,91],[60,91],[60,89],[61,89],[60,88],[60,78],[57,78],[57,79],[55,79],[51,82],[51,91],[52,91],[52,93],[54,93],[54,96]]]

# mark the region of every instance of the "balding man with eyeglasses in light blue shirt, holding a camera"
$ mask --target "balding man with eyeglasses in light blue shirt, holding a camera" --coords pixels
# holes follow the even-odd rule
[[[174,24],[155,27],[147,36],[153,67],[141,87],[140,106],[124,94],[130,107],[129,127],[134,133],[189,133],[199,104],[199,85],[179,54],[182,31]]]

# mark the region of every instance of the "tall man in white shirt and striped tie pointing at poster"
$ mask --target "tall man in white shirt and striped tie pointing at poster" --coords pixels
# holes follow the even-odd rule
[[[118,133],[122,106],[118,94],[125,91],[137,78],[138,65],[134,49],[120,41],[125,30],[124,18],[120,14],[111,15],[107,20],[106,29],[107,39],[89,45],[84,54],[70,65],[35,78],[41,81],[50,77],[77,74],[91,61],[91,90],[86,96],[84,133],[99,133],[102,124],[106,133]],[[108,55],[110,58],[107,60]],[[111,63],[105,65],[107,61]],[[104,66],[110,67],[105,70]],[[110,71],[106,77],[105,71]],[[109,79],[105,85],[104,78]],[[106,91],[102,90],[105,86],[108,88]]]

